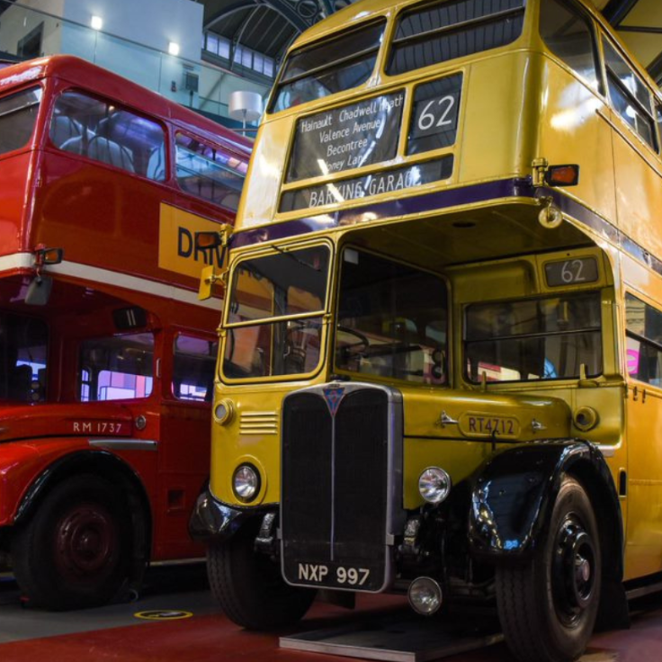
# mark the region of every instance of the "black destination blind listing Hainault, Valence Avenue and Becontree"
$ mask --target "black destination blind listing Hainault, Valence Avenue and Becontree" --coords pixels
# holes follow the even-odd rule
[[[405,91],[309,115],[297,123],[288,182],[396,156]]]

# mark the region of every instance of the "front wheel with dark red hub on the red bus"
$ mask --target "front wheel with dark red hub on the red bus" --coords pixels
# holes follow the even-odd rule
[[[130,571],[130,517],[121,492],[81,475],[53,488],[12,538],[13,573],[29,606],[106,604]]]

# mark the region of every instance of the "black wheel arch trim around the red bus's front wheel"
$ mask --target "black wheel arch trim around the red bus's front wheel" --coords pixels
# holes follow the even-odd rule
[[[26,522],[63,480],[75,475],[92,474],[121,488],[127,498],[131,519],[132,561],[130,586],[138,588],[150,558],[152,514],[148,493],[142,480],[129,464],[107,451],[79,451],[54,461],[34,479],[16,510],[13,526]]]

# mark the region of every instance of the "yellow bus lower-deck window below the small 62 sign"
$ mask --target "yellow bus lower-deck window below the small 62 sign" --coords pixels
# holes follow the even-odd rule
[[[469,379],[577,379],[602,372],[600,293],[473,304],[465,327]]]

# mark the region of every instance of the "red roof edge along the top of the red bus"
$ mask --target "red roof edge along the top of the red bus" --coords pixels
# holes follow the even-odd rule
[[[154,117],[174,121],[182,127],[191,127],[205,138],[213,141],[221,139],[228,148],[249,155],[251,141],[232,130],[203,117],[197,112],[184,108],[179,103],[132,83],[127,78],[112,71],[97,67],[90,62],[72,55],[52,55],[48,58],[33,59],[0,69],[0,94],[42,78],[59,78],[72,85],[111,97],[115,101],[146,112]]]

